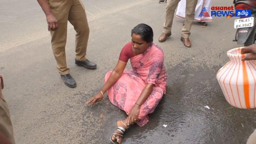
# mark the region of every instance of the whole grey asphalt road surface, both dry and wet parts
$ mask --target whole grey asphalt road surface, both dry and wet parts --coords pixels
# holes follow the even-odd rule
[[[149,123],[132,126],[124,144],[246,142],[256,128],[256,110],[229,105],[216,80],[216,72],[229,61],[226,52],[239,47],[232,42],[235,18],[214,17],[205,28],[195,22],[188,49],[180,42],[183,20],[179,18],[173,21],[172,36],[164,43],[157,41],[166,4],[83,1],[90,26],[87,58],[98,68],[87,70],[74,64],[75,31],[69,24],[66,54],[77,82],[74,89],[62,83],[56,70],[50,34],[37,1],[0,2],[0,74],[17,144],[109,143],[116,121],[124,119],[125,113],[107,97],[93,108],[85,102],[100,90],[105,73],[115,67],[120,50],[131,40],[131,29],[139,23],[153,28],[154,42],[164,50],[168,86]],[[213,6],[231,5],[231,1],[213,1]]]

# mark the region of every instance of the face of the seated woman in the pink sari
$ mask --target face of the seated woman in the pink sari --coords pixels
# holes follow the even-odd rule
[[[143,54],[149,45],[150,43],[144,41],[139,34],[132,34],[132,50],[137,54]]]

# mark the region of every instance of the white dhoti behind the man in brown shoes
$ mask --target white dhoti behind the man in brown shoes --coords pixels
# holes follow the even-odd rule
[[[206,11],[209,13],[210,17],[199,17],[204,7]],[[212,21],[211,7],[212,7],[212,0],[198,0],[196,4],[194,20],[198,22]],[[185,14],[186,14],[186,0],[180,0],[178,9],[176,12],[176,17],[185,19]]]

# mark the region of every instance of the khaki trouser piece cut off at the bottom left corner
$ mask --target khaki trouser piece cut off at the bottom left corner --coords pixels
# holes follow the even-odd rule
[[[15,144],[10,111],[2,97],[0,97],[0,132],[3,133],[10,142]]]

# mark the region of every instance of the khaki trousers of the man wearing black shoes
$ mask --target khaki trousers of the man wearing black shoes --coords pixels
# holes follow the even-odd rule
[[[68,74],[70,69],[67,66],[65,53],[68,21],[76,30],[76,60],[86,60],[89,25],[84,4],[81,0],[48,0],[48,3],[59,24],[56,31],[51,31],[53,55],[60,74]]]

